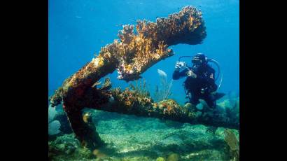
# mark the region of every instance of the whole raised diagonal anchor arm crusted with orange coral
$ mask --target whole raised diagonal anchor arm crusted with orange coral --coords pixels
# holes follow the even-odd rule
[[[134,33],[133,25],[124,25],[118,33],[120,42],[114,40],[101,48],[97,57],[64,81],[50,98],[52,106],[57,106],[66,95],[83,97],[89,87],[115,69],[119,79],[138,79],[153,64],[173,55],[167,49],[169,45],[197,44],[206,37],[202,13],[190,6],[156,22],[137,20],[136,30]]]

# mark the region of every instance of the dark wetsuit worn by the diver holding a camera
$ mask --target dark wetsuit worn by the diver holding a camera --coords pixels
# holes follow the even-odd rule
[[[193,67],[188,67],[193,71],[197,78],[188,76],[184,85],[186,87],[187,94],[191,94],[190,103],[197,105],[199,104],[199,99],[204,99],[207,102],[207,105],[211,108],[216,107],[216,98],[211,92],[217,90],[217,85],[214,80],[214,69],[211,68],[208,64],[203,64],[201,66],[193,65]],[[184,76],[187,76],[188,69],[183,71],[174,71],[172,78],[178,80]],[[202,88],[204,89],[204,94],[201,93]]]

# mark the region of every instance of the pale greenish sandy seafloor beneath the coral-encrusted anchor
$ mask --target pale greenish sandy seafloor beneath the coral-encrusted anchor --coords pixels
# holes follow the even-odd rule
[[[230,160],[223,127],[89,111],[106,146],[91,152],[61,132],[50,138],[50,160]]]

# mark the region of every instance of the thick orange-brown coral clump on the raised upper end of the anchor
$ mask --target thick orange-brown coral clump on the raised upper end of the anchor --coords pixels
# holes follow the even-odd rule
[[[137,34],[134,34],[133,25],[123,28],[118,34],[123,56],[118,65],[118,78],[127,81],[139,78],[139,74],[153,64],[172,56],[168,46],[178,43],[195,45],[206,36],[202,14],[190,6],[168,18],[158,18],[156,22],[137,20]]]

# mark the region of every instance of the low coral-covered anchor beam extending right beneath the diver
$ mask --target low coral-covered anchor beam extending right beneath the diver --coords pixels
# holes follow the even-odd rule
[[[114,98],[113,102],[94,109],[175,120],[181,123],[239,128],[239,122],[229,122],[229,117],[234,116],[228,116],[225,112],[225,107],[217,106],[216,109],[209,109],[207,104],[203,104],[203,109],[197,111],[195,106],[191,106],[191,104],[181,106],[173,99],[154,102],[151,97],[142,94],[139,90],[133,89],[134,88],[127,87],[123,91],[121,91],[120,88],[111,90],[111,94]]]

